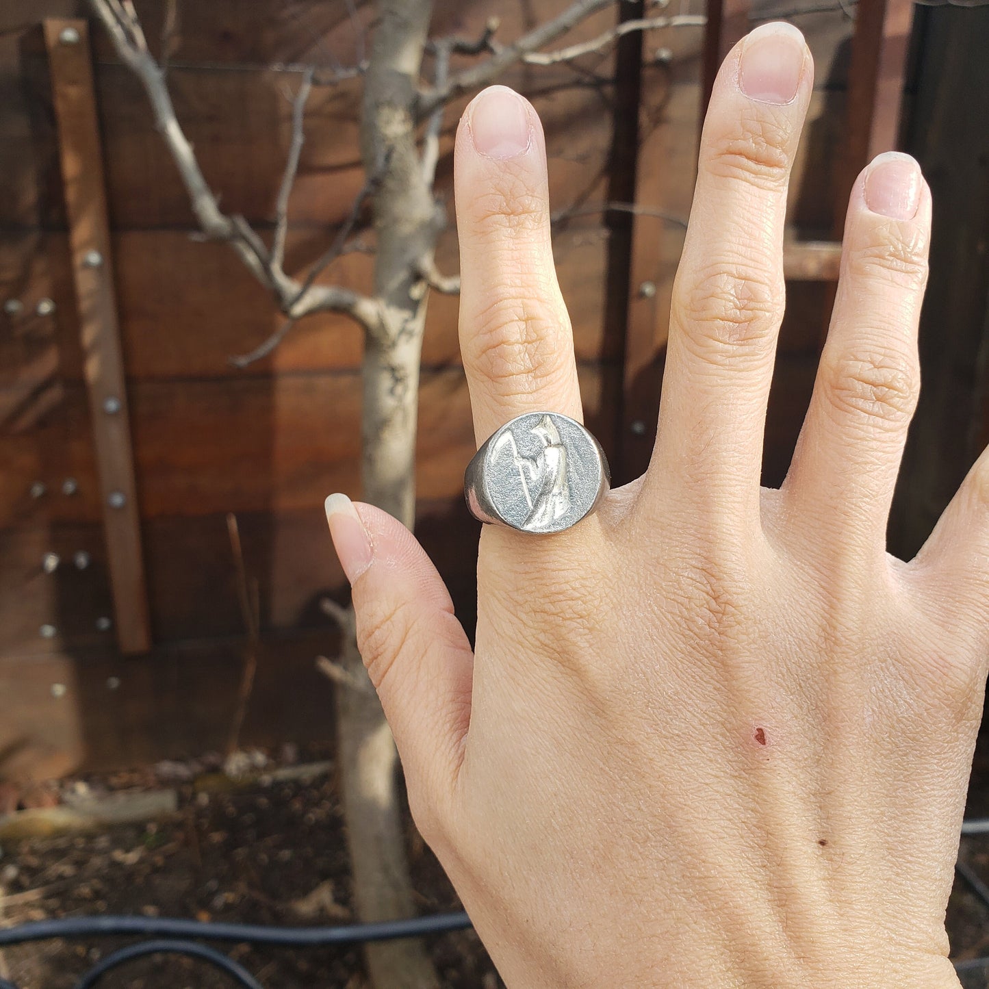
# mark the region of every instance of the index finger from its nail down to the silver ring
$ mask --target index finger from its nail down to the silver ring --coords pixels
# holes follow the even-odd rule
[[[480,446],[523,412],[583,419],[550,242],[546,147],[528,101],[486,89],[457,132],[460,348]]]

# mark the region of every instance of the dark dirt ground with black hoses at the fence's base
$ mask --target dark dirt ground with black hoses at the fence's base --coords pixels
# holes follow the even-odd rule
[[[989,747],[987,747],[989,748]],[[981,749],[981,747],[980,747]],[[281,779],[297,762],[328,754],[291,750],[243,756],[230,777],[219,758],[51,784],[36,805],[119,791],[177,790],[179,811],[164,820],[95,834],[30,838],[0,852],[0,924],[99,914],[188,917],[280,926],[354,920],[347,854],[331,766],[315,777]],[[229,768],[229,766],[227,766]],[[289,770],[291,771],[291,769]],[[989,816],[989,752],[976,758],[968,817]],[[409,857],[421,913],[459,909],[433,855],[409,825]],[[989,883],[989,835],[965,837],[960,858]],[[958,879],[947,911],[955,958],[989,955],[989,904]],[[122,939],[46,942],[5,948],[0,973],[19,989],[71,989]],[[217,945],[265,989],[365,989],[359,949]],[[470,931],[428,940],[449,989],[500,989],[494,965]],[[4,969],[3,965],[6,965]],[[176,956],[135,961],[101,989],[227,989],[224,975]],[[962,975],[964,989],[989,989],[989,966]]]

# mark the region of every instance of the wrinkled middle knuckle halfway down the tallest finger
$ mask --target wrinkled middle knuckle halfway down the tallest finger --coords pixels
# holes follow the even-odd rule
[[[677,280],[674,312],[699,331],[718,356],[733,358],[740,344],[769,340],[782,308],[782,285],[764,270],[719,262],[701,271],[689,285]],[[690,333],[686,334],[689,338]]]

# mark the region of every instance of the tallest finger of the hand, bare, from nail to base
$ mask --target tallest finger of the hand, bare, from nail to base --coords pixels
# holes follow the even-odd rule
[[[786,192],[812,88],[810,52],[787,24],[757,28],[721,66],[674,282],[646,505],[672,485],[719,517],[758,517]]]

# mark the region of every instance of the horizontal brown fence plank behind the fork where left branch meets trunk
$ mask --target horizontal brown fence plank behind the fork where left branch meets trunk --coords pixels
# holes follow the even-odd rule
[[[573,314],[581,361],[613,360],[620,341],[604,328],[604,267],[607,232],[583,218],[560,225],[553,250],[564,298]],[[194,240],[185,230],[131,230],[113,234],[117,303],[126,372],[131,380],[241,377],[230,357],[266,339],[281,325],[269,294],[225,244]],[[288,254],[301,265],[315,259],[324,239],[314,231],[289,236]],[[457,243],[443,237],[439,260],[457,269]],[[371,258],[349,254],[328,277],[358,291],[370,287]],[[0,312],[0,393],[38,387],[46,380],[81,381],[78,320],[65,238],[58,233],[0,233],[0,300],[22,301],[16,317]],[[36,313],[51,298],[55,311]],[[429,302],[422,363],[426,368],[460,364],[456,297]],[[161,327],[167,326],[167,332]],[[302,321],[275,352],[250,368],[259,371],[357,369],[362,337],[344,315],[316,314]],[[0,397],[0,403],[4,400]],[[0,415],[2,421],[2,415]]]

